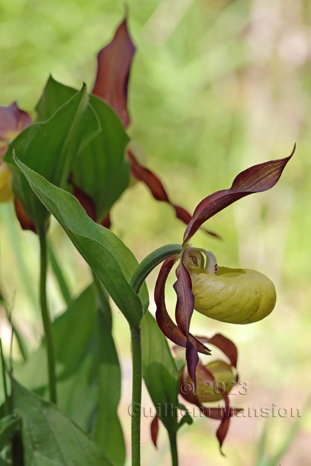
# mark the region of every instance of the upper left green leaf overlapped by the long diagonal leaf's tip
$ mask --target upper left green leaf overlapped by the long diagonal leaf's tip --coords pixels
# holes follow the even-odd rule
[[[12,163],[13,151],[27,166],[56,186],[65,187],[82,139],[88,95],[85,84],[55,114],[43,123],[33,123],[14,139],[5,160]],[[94,128],[92,129],[92,131]],[[91,136],[91,135],[90,135]],[[14,164],[12,165],[14,167]],[[48,212],[34,196],[20,171],[14,170],[13,189],[35,225],[43,225]]]

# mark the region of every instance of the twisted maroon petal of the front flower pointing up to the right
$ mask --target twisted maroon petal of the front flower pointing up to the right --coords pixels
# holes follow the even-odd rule
[[[200,226],[217,212],[249,194],[272,188],[279,180],[295,149],[296,144],[289,157],[264,162],[242,171],[235,177],[230,189],[214,192],[203,199],[195,208],[192,219],[186,228],[184,243],[189,241]]]

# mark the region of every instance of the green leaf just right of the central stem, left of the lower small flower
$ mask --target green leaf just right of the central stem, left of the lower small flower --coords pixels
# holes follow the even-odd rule
[[[157,414],[169,432],[178,429],[179,375],[173,356],[154,317],[141,322],[143,377]]]

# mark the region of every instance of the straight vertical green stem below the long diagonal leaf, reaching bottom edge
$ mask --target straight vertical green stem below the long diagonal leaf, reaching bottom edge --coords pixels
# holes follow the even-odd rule
[[[132,346],[132,403],[131,403],[131,446],[132,466],[140,466],[140,417],[141,417],[141,330],[131,328]]]

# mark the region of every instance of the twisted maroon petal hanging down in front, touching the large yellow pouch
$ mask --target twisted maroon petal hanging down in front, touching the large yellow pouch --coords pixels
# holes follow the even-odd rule
[[[192,281],[187,268],[184,266],[183,257],[185,251],[181,254],[180,264],[176,268],[177,281],[173,288],[177,295],[177,303],[175,310],[175,318],[181,332],[187,338],[186,343],[186,361],[188,373],[194,383],[194,391],[196,393],[196,377],[195,370],[199,362],[199,355],[194,345],[189,340],[189,327],[192,314],[194,312],[194,294],[192,292]]]

